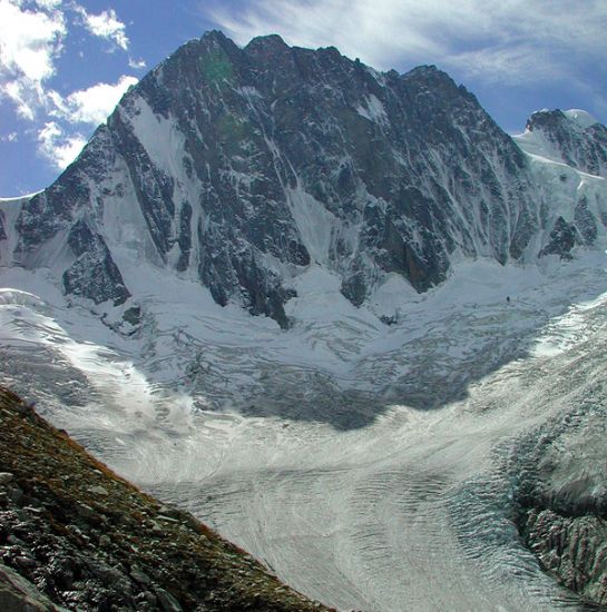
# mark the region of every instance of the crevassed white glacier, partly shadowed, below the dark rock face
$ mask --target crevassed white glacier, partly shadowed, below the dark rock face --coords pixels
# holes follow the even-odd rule
[[[131,265],[138,337],[102,305],[68,308],[41,270],[3,270],[0,363],[112,467],[325,603],[578,609],[521,546],[512,499],[528,437],[603,374],[584,363],[605,349],[605,268],[598,253],[463,263],[354,308],[316,266],[284,330]]]

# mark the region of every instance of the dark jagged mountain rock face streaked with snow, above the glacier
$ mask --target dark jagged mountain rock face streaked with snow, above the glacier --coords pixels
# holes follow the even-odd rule
[[[533,117],[530,129],[552,129]],[[564,155],[576,145],[566,127]],[[604,132],[584,132],[597,146],[578,167],[604,168]],[[268,36],[241,49],[213,31],[131,88],[78,160],[21,205],[8,257],[57,263],[63,290],[97,304],[127,302],[121,259],[144,258],[287,326],[292,280],[311,264],[360,305],[391,273],[424,292],[454,258],[594,244],[599,205],[559,220],[528,166],[434,67],[380,73],[334,48]]]

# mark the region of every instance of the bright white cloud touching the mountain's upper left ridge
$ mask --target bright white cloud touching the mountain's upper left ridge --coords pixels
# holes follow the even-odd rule
[[[107,119],[125,91],[137,81],[135,77],[123,75],[114,85],[99,82],[88,89],[75,91],[65,99],[52,91],[50,96],[57,107],[52,115],[70,124],[98,126]]]

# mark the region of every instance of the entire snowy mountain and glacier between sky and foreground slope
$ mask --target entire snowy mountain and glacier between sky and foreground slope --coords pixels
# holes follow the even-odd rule
[[[0,376],[326,605],[600,609],[606,249],[588,113],[212,31],[0,201]]]

